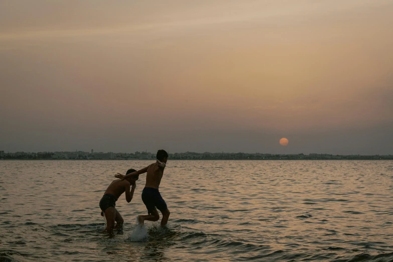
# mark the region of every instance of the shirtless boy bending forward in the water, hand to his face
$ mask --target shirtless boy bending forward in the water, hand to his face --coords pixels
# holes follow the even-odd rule
[[[136,172],[135,169],[129,169],[126,174]],[[124,220],[120,213],[115,208],[115,203],[122,193],[125,191],[125,200],[129,203],[133,199],[135,187],[137,186],[136,181],[139,175],[129,176],[127,180],[114,180],[105,191],[99,201],[99,207],[101,208],[101,216],[105,214],[106,228],[102,231],[108,232],[109,236],[113,236],[113,228],[119,228],[123,224]],[[129,189],[131,187],[131,190]],[[116,221],[116,226],[114,222]]]

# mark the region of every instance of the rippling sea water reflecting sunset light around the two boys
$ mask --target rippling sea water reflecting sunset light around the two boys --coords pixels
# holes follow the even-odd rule
[[[168,161],[168,227],[136,229],[141,175],[109,239],[101,196],[150,163],[0,161],[0,261],[393,261],[393,161]]]

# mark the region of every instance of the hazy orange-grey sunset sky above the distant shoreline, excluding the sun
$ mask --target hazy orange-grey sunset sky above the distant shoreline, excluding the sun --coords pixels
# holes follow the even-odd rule
[[[392,25],[391,0],[4,0],[0,150],[393,154]]]

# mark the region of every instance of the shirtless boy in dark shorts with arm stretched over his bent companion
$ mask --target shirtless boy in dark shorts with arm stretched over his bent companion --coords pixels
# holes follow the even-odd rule
[[[171,214],[168,210],[167,204],[162,198],[158,188],[160,186],[161,178],[164,174],[164,169],[168,160],[168,153],[165,150],[159,150],[157,152],[157,162],[149,165],[148,167],[138,170],[137,172],[130,173],[128,175],[121,175],[117,173],[116,178],[122,180],[128,179],[135,175],[147,173],[146,185],[142,191],[142,201],[145,203],[148,209],[148,215],[138,216],[138,222],[142,226],[145,220],[157,221],[160,219],[160,215],[156,207],[161,211],[163,219],[161,220],[161,226],[165,226],[168,223],[169,215]]]

